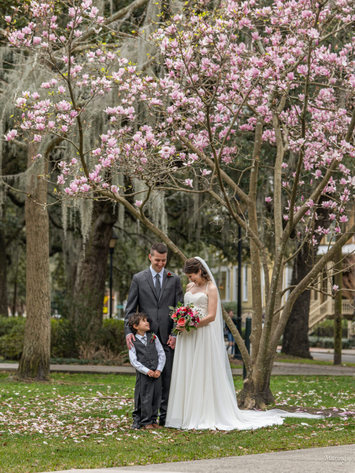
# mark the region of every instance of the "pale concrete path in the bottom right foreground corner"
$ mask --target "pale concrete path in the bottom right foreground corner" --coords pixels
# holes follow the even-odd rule
[[[306,448],[286,452],[227,456],[210,460],[125,466],[122,468],[72,469],[57,473],[354,473],[355,444]],[[45,472],[49,473],[49,472]]]

